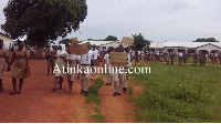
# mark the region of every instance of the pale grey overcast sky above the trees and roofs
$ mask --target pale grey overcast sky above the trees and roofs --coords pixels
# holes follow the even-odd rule
[[[0,2],[0,23],[4,23]],[[143,33],[151,41],[221,41],[221,0],[87,0],[87,17],[80,32],[67,38],[105,39]]]

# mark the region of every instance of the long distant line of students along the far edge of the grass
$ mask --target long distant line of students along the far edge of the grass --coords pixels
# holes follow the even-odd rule
[[[187,52],[150,52],[150,51],[135,51],[135,64],[139,63],[144,65],[144,62],[167,62],[167,64],[175,64],[175,61],[178,60],[179,64],[187,64],[189,58],[192,58],[192,65],[196,66],[200,63],[201,66],[204,66],[208,60],[211,60],[211,64],[219,63],[221,65],[221,53],[215,54],[211,53],[207,56],[204,52],[200,54],[197,53],[187,53]]]

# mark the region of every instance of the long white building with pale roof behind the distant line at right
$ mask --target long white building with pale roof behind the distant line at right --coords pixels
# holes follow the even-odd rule
[[[149,48],[161,52],[220,53],[221,42],[151,42]]]

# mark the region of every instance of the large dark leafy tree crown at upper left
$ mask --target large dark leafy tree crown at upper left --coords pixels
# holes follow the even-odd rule
[[[32,44],[65,38],[80,28],[87,16],[86,0],[9,0],[1,25],[12,38],[28,35]]]

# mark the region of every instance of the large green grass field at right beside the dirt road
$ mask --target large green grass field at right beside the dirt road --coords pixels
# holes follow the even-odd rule
[[[150,63],[151,74],[133,74],[144,92],[135,99],[137,122],[221,122],[219,66]]]

